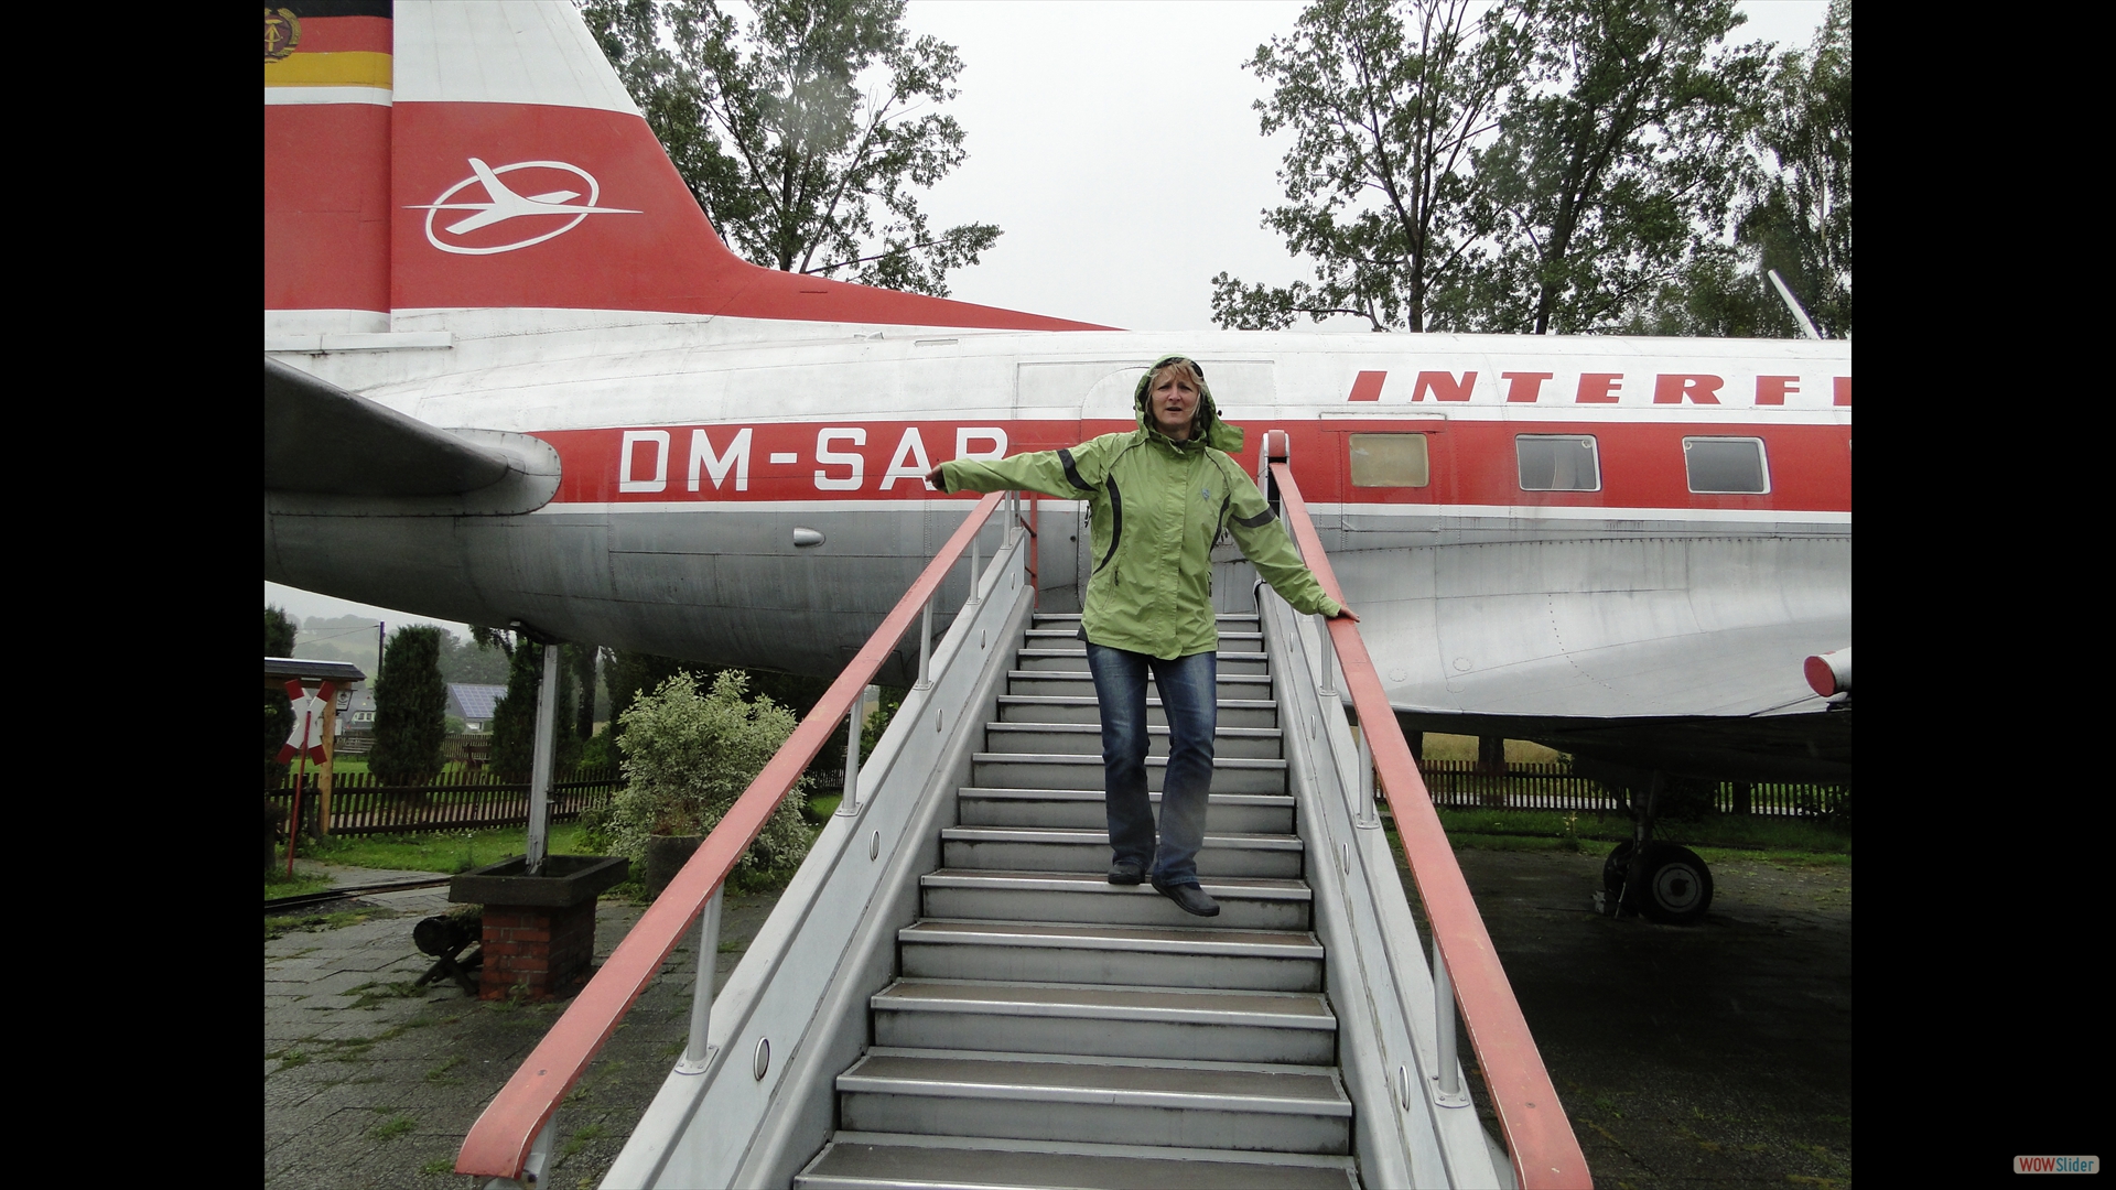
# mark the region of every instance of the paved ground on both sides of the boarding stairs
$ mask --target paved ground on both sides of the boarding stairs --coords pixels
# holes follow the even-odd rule
[[[1716,864],[1705,923],[1672,927],[1587,913],[1593,853],[1460,862],[1595,1186],[1849,1186],[1849,868]],[[411,927],[449,908],[444,889],[372,902],[355,925],[264,944],[269,1188],[461,1186],[446,1171],[466,1131],[557,1021],[413,989],[430,959]],[[728,902],[722,980],[770,904]],[[637,917],[601,906],[597,959]],[[681,1050],[694,970],[686,942],[561,1107],[552,1186],[595,1186],[616,1158]]]

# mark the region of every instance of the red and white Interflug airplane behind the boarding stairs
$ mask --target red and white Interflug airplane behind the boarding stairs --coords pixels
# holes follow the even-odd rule
[[[1674,779],[1849,779],[1845,341],[1126,332],[781,273],[571,4],[303,8],[267,38],[271,582],[834,675],[963,515],[933,464],[1128,430],[1185,354],[1242,466],[1289,434],[1405,731],[1600,764],[1640,845]],[[1035,504],[1045,610],[1083,517]]]

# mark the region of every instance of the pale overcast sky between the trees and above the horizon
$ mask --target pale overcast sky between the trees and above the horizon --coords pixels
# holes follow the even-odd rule
[[[925,199],[935,229],[1005,235],[952,296],[1126,330],[1212,328],[1212,275],[1287,284],[1308,271],[1259,227],[1284,201],[1284,140],[1257,133],[1265,95],[1242,70],[1293,30],[1299,0],[912,0],[906,21],[963,57],[944,110],[969,159]],[[1807,49],[1826,0],[1750,0],[1735,40]],[[1363,330],[1363,326],[1354,326]],[[436,623],[264,584],[307,616]],[[468,637],[463,625],[446,625]]]

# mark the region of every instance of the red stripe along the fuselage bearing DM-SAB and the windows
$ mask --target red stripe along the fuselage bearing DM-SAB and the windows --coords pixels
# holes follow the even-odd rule
[[[628,502],[753,502],[753,500],[933,500],[918,479],[899,472],[956,457],[956,434],[975,436],[969,451],[988,451],[984,430],[1005,434],[1005,453],[1050,451],[1130,430],[1126,421],[796,421],[650,426],[609,430],[540,432],[557,447],[563,476],[559,504]],[[694,432],[705,432],[705,451],[694,451]],[[738,445],[738,434],[749,438]],[[1720,510],[1852,510],[1852,428],[1813,423],[1697,423],[1646,421],[1403,421],[1329,419],[1272,421],[1248,426],[1248,447],[1234,455],[1244,474],[1255,474],[1257,445],[1265,430],[1287,430],[1293,443],[1293,472],[1312,500],[1346,504],[1475,504],[1549,508],[1720,508]],[[863,434],[863,443],[855,440]],[[626,459],[624,440],[633,436]],[[662,447],[660,434],[667,434]],[[825,434],[832,434],[825,438]],[[916,434],[916,438],[914,438]],[[1348,438],[1352,434],[1430,434],[1430,483],[1426,487],[1352,487]],[[1517,434],[1589,434],[1595,438],[1602,472],[1600,491],[1521,491],[1515,459]],[[1689,489],[1682,438],[1761,438],[1771,491],[1761,495],[1714,495]],[[772,455],[791,462],[770,462]],[[823,455],[829,455],[827,459]],[[747,457],[747,483],[741,476]],[[859,464],[846,462],[857,457]],[[690,476],[698,472],[698,489]],[[719,468],[715,483],[711,470]],[[821,472],[821,474],[819,474]],[[857,472],[857,487],[851,485]],[[660,485],[654,487],[656,476]],[[889,483],[884,489],[882,483]]]

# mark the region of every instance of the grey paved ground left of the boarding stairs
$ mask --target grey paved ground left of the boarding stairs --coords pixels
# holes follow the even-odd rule
[[[339,883],[421,875],[432,872],[332,870]],[[715,987],[774,900],[728,898]],[[569,1002],[478,1002],[446,978],[417,989],[432,959],[411,930],[455,908],[446,887],[360,904],[358,923],[264,942],[264,1186],[463,1186],[451,1173],[463,1135]],[[599,906],[597,961],[639,913],[609,900]],[[683,1048],[696,970],[690,934],[559,1110],[552,1186],[595,1186],[616,1160]]]

